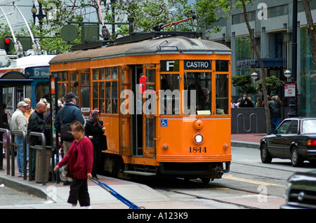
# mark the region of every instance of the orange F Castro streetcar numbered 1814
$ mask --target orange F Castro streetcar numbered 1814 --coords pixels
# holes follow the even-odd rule
[[[84,116],[101,112],[111,175],[209,182],[230,170],[231,53],[169,36],[65,53],[50,65],[58,98],[74,91]]]

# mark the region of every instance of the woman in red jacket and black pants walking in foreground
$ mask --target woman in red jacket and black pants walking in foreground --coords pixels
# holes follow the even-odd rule
[[[90,196],[88,194],[88,178],[91,178],[93,164],[93,144],[84,135],[84,126],[79,121],[74,121],[71,125],[74,141],[66,156],[62,158],[54,168],[58,171],[60,167],[68,163],[66,177],[72,177],[70,184],[70,195],[68,203],[72,208],[77,207],[77,201],[82,206],[90,208]]]

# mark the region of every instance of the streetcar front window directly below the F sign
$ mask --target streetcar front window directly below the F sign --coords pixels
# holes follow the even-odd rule
[[[160,75],[160,111],[159,114],[180,114],[179,75]]]

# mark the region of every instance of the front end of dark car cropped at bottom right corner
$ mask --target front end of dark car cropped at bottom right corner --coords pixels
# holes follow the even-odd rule
[[[285,194],[287,203],[282,209],[316,208],[316,170],[308,173],[294,173],[289,177]]]

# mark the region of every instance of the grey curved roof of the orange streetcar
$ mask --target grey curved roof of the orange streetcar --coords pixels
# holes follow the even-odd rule
[[[85,60],[99,60],[103,58],[117,58],[132,55],[154,54],[231,54],[232,50],[221,43],[203,39],[189,39],[176,36],[162,39],[152,39],[137,43],[118,46],[81,50],[63,53],[53,58],[50,64],[62,62],[78,62]]]

